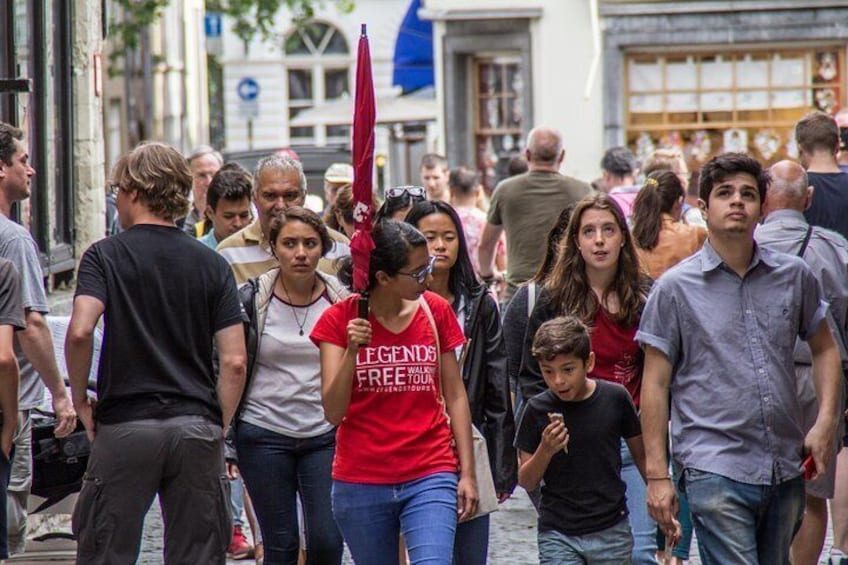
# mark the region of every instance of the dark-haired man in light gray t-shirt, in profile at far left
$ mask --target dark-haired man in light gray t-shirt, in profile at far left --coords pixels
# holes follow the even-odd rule
[[[56,436],[64,437],[76,427],[76,413],[56,366],[53,338],[44,319],[48,308],[38,247],[26,228],[9,219],[12,204],[29,198],[30,179],[35,174],[22,140],[21,130],[0,122],[0,257],[11,261],[20,274],[26,318],[26,329],[15,334],[21,385],[9,481],[10,553],[21,553],[26,547],[26,508],[32,485],[30,410],[41,404],[44,385],[53,396],[53,410],[59,420]]]

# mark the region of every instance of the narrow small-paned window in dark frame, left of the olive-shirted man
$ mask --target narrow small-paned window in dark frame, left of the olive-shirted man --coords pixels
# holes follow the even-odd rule
[[[498,163],[520,151],[524,85],[518,56],[473,61],[476,166],[487,191],[494,189]]]

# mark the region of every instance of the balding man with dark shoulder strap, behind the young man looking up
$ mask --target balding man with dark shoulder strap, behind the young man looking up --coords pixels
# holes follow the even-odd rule
[[[828,322],[844,366],[848,360],[845,349],[845,330],[848,327],[848,240],[835,231],[807,223],[804,210],[809,207],[814,192],[801,165],[794,161],[781,161],[772,165],[769,172],[771,183],[763,205],[766,218],[754,234],[757,244],[773,251],[797,255],[813,270],[830,305]],[[795,346],[795,376],[798,379],[798,400],[804,415],[804,431],[815,424],[818,413],[811,361],[810,348],[798,340]],[[842,445],[843,422],[844,419],[839,418],[834,454]],[[804,520],[792,541],[793,563],[818,561],[827,529],[827,500],[833,498],[835,482],[836,457],[832,457],[827,472],[804,485],[807,493]]]

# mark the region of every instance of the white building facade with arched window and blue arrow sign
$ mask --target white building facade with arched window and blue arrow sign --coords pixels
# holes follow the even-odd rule
[[[312,169],[320,179],[322,167],[332,160],[349,160],[356,54],[364,23],[377,106],[376,185],[418,182],[420,156],[436,147],[436,106],[432,88],[402,96],[393,78],[410,6],[410,0],[357,0],[346,13],[327,2],[317,4],[314,19],[302,26],[283,10],[276,39],[256,37],[247,44],[225,19],[220,62],[226,151],[291,147],[307,168],[310,190]]]

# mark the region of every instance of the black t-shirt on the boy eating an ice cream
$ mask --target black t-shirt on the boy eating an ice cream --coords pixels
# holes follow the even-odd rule
[[[563,402],[550,390],[530,399],[515,438],[515,447],[535,453],[548,412],[563,415],[568,453],[551,458],[542,482],[539,531],[577,536],[605,530],[627,516],[621,480],[621,439],[642,433],[627,390],[596,380],[592,396]]]

